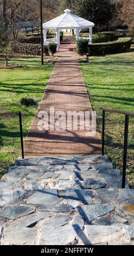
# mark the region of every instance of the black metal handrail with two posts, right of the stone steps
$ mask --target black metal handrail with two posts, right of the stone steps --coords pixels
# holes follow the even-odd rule
[[[102,129],[102,155],[104,156],[105,150],[105,111],[111,113],[118,113],[125,115],[125,127],[124,127],[124,150],[123,150],[123,174],[122,174],[122,188],[125,188],[126,179],[126,160],[127,160],[127,142],[129,134],[129,117],[134,117],[134,113],[129,111],[120,111],[116,109],[103,108],[103,129]]]

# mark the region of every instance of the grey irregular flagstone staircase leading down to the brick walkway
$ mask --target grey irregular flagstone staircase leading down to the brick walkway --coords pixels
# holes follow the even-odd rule
[[[107,156],[17,159],[0,182],[2,245],[134,245],[134,190]]]

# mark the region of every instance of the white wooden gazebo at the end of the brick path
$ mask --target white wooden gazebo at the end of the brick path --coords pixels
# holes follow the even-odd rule
[[[48,44],[50,41],[55,41],[58,45],[57,51],[59,52],[60,46],[60,31],[63,29],[74,29],[76,32],[76,40],[79,39],[79,33],[82,28],[89,28],[89,42],[92,44],[92,28],[94,23],[87,21],[71,13],[71,10],[66,9],[65,13],[56,17],[55,19],[43,24],[43,39],[44,44]],[[47,39],[47,29],[54,29],[56,32],[56,38]]]

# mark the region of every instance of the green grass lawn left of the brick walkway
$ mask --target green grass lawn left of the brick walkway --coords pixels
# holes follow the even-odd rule
[[[22,68],[14,70],[0,69],[0,112],[22,111],[23,134],[27,135],[37,106],[21,106],[22,97],[31,97],[39,104],[46,83],[53,69],[53,64],[45,62],[40,65],[40,58],[22,57],[9,62],[21,64]],[[21,154],[18,115],[0,117],[0,136],[4,145],[0,147],[0,176]]]

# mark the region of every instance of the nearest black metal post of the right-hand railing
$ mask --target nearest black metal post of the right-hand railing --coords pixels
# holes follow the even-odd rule
[[[125,188],[125,179],[126,179],[126,159],[127,159],[128,133],[129,133],[129,115],[125,115],[122,188]]]

